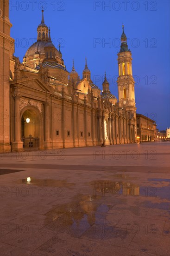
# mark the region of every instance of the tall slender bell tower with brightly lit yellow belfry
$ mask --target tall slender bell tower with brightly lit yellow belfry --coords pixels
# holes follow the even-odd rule
[[[124,25],[122,26],[123,33],[121,35],[121,47],[118,53],[118,93],[119,93],[119,107],[126,107],[127,111],[136,113],[135,107],[135,91],[134,80],[132,77],[132,54],[127,46],[127,38],[124,32]]]

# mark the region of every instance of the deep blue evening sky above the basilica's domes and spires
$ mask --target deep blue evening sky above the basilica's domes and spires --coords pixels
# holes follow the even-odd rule
[[[11,36],[15,39],[15,56],[20,61],[36,41],[42,6],[53,43],[57,48],[61,44],[67,70],[71,71],[74,59],[82,78],[87,56],[94,83],[102,89],[106,70],[111,93],[117,98],[117,52],[123,22],[132,51],[137,113],[155,120],[159,130],[169,127],[169,0],[11,0]]]

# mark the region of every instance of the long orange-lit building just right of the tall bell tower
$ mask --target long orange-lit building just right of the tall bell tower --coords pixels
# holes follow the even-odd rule
[[[138,141],[156,141],[157,124],[145,115],[136,114]]]

